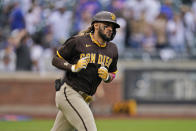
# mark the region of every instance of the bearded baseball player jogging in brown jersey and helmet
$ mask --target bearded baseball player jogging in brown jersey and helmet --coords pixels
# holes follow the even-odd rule
[[[89,102],[103,80],[111,82],[117,72],[118,51],[110,42],[120,25],[107,11],[95,14],[91,26],[68,39],[57,50],[52,64],[65,70],[56,80],[56,106],[59,112],[51,131],[97,131]]]

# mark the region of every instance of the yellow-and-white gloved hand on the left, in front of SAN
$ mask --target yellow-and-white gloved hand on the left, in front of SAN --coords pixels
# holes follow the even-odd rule
[[[72,72],[79,72],[82,69],[86,69],[89,61],[90,61],[89,57],[83,57],[83,58],[79,59],[77,64],[72,65],[72,67],[71,67]]]

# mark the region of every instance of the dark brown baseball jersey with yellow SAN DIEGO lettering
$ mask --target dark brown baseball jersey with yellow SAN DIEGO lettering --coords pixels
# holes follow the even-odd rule
[[[98,76],[98,68],[102,63],[108,72],[117,72],[118,51],[116,45],[112,42],[100,45],[93,39],[92,34],[71,37],[57,51],[57,54],[70,64],[76,64],[82,57],[90,57],[86,69],[76,73],[66,71],[63,79],[75,90],[83,91],[88,95],[95,94],[102,80]]]

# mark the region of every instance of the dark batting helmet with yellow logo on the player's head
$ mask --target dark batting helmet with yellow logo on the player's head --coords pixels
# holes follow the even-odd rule
[[[93,25],[95,22],[111,22],[115,25],[116,28],[120,28],[120,25],[116,22],[115,14],[108,11],[101,11],[95,14],[91,25]]]

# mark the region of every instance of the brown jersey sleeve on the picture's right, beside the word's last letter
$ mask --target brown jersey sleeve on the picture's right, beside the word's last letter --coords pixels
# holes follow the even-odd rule
[[[112,60],[112,63],[108,69],[108,72],[110,73],[115,73],[117,72],[117,62],[118,62],[118,50],[115,46],[115,51],[114,51],[114,57],[113,57],[113,60]]]

